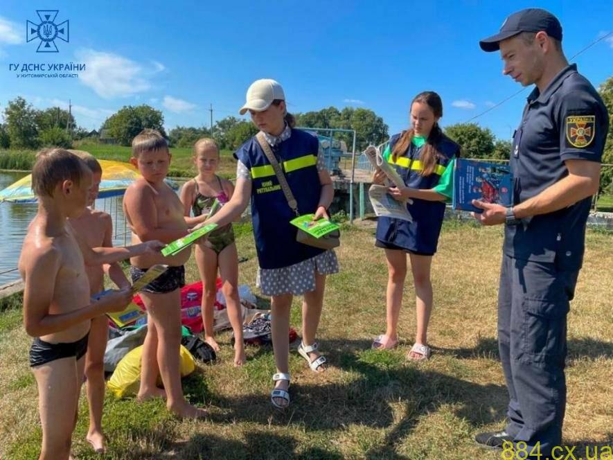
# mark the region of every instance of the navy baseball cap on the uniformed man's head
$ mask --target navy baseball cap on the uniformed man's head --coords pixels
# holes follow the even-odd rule
[[[562,26],[558,18],[540,8],[528,8],[514,12],[504,20],[500,32],[479,42],[483,51],[498,51],[499,43],[522,32],[540,32],[562,41]]]

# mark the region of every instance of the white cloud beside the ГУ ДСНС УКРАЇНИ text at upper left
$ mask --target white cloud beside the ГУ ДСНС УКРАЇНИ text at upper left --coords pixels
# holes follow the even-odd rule
[[[105,99],[124,98],[147,91],[152,76],[164,68],[159,62],[153,62],[151,69],[148,64],[93,49],[78,51],[76,61],[85,64],[79,80]]]

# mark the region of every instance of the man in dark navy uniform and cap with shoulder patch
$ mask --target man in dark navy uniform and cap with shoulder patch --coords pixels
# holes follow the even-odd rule
[[[567,312],[609,117],[594,87],[567,62],[551,13],[516,12],[479,44],[500,51],[504,75],[535,88],[513,136],[513,206],[473,202],[483,210],[473,214],[481,224],[506,224],[498,340],[510,397],[506,429],[476,440],[490,448],[510,441],[518,453],[545,458],[562,443]]]

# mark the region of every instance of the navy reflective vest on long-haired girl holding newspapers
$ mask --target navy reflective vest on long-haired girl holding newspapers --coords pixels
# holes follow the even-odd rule
[[[402,134],[395,134],[391,137],[389,141],[391,151],[400,136]],[[460,154],[460,146],[444,134],[436,148],[443,154],[443,157],[436,159],[436,169],[429,176],[420,175],[420,171],[423,170],[419,161],[421,148],[416,148],[415,145],[409,145],[407,152],[398,157],[396,161],[393,161],[392,157],[389,157],[387,161],[396,167],[396,171],[404,179],[407,187],[434,188],[447,168],[447,164]],[[377,219],[377,240],[420,254],[434,254],[443,226],[445,203],[414,198],[413,204],[409,204],[407,209],[413,217],[413,222],[384,217]]]

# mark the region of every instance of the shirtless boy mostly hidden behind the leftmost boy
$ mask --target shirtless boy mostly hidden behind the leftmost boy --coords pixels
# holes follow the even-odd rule
[[[81,236],[88,247],[113,246],[113,220],[111,215],[103,211],[91,209],[98,197],[98,189],[102,180],[102,168],[96,158],[81,150],[69,150],[82,159],[91,170],[92,185],[87,198],[87,208],[78,218],[70,218],[69,222],[76,233]],[[130,281],[118,263],[85,267],[89,280],[90,295],[104,290],[105,272],[119,289],[129,289]],[[89,430],[85,439],[98,454],[105,452],[105,439],[102,432],[102,413],[105,400],[105,369],[104,357],[109,336],[109,320],[100,315],[91,320],[87,353],[85,354],[85,378],[87,378],[87,402],[89,403]]]

